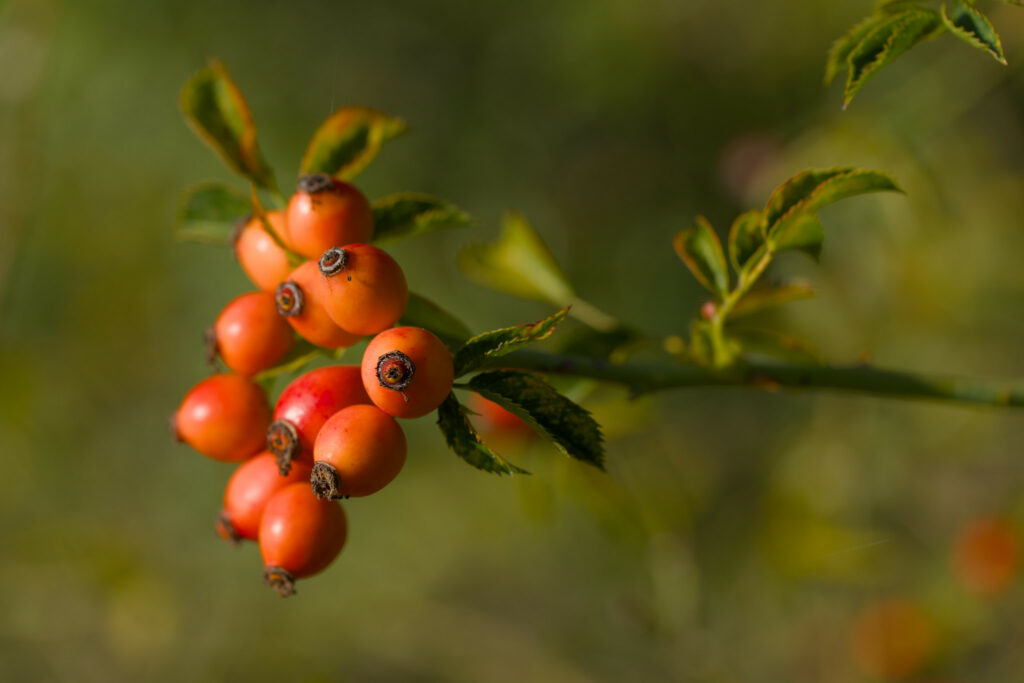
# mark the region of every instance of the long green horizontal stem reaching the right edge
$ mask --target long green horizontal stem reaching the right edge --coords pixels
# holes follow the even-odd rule
[[[755,387],[841,391],[911,400],[939,400],[963,405],[1024,407],[1024,383],[923,375],[870,366],[807,366],[752,362],[728,374],[694,365],[664,362],[611,364],[602,358],[514,351],[489,359],[489,368],[529,370],[587,377],[649,393],[684,387]]]

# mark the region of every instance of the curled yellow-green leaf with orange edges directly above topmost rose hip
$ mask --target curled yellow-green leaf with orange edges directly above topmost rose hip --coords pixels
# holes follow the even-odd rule
[[[350,180],[377,157],[381,144],[406,132],[406,122],[367,106],[345,106],[321,124],[302,157],[302,173]]]

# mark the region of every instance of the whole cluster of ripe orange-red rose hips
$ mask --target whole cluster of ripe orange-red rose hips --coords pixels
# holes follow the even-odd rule
[[[231,372],[193,387],[173,417],[180,440],[241,463],[217,530],[258,541],[264,582],[283,596],[345,545],[337,499],[376,493],[401,470],[406,436],[395,418],[427,415],[452,390],[444,344],[426,330],[393,327],[409,291],[395,260],[369,244],[373,229],[359,190],[325,174],[303,176],[286,211],[244,221],[234,251],[260,291],[228,303],[207,335]],[[293,267],[295,254],[308,260]],[[281,362],[296,333],[329,349],[374,338],[361,366],[307,372],[271,411],[253,375]]]

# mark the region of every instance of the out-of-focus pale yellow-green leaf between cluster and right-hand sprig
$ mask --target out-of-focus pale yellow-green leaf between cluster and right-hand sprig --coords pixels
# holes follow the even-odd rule
[[[459,267],[475,283],[523,299],[565,306],[575,298],[548,246],[517,213],[505,216],[497,242],[465,247]]]

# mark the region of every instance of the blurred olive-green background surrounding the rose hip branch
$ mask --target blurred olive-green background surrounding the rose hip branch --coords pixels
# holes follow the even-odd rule
[[[859,165],[907,197],[823,212],[821,264],[772,271],[819,297],[760,323],[835,361],[1024,375],[1024,12],[982,3],[1009,69],[945,36],[843,113],[823,55],[870,4],[0,1],[0,680],[840,683],[871,680],[851,633],[890,599],[932,633],[914,680],[1021,680],[1022,587],[978,597],[950,560],[971,520],[1024,521],[1021,415],[606,392],[606,475],[526,444],[518,479],[422,419],[288,600],[213,532],[230,467],[166,431],[208,372],[203,329],[250,289],[229,250],[171,233],[184,187],[233,181],[176,105],[210,56],[286,184],[333,108],[411,122],[358,184],[480,221],[392,250],[475,330],[550,312],[454,266],[506,209],[584,297],[685,333],[678,229]]]

